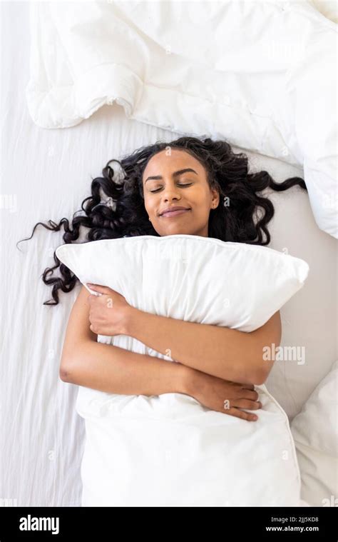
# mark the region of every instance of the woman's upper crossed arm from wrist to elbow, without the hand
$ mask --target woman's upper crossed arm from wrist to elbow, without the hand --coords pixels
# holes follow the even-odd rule
[[[225,380],[262,384],[273,361],[263,348],[280,346],[282,326],[277,311],[263,326],[247,333],[227,327],[193,323],[132,308],[126,335],[189,367]]]

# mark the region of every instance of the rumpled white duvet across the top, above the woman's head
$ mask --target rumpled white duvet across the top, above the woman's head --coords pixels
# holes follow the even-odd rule
[[[307,1],[38,2],[29,111],[66,128],[116,101],[130,119],[304,166],[338,238],[337,26]]]

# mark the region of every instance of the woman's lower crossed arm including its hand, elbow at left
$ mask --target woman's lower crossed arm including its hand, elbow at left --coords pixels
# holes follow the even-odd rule
[[[252,383],[228,382],[175,361],[97,343],[96,333],[88,326],[89,312],[88,293],[83,286],[63,343],[59,373],[64,382],[124,395],[185,393],[212,410],[248,421],[257,419],[241,410],[262,407]]]

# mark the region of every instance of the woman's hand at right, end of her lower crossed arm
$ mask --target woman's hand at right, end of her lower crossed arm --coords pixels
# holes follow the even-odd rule
[[[242,384],[203,373],[197,369],[189,371],[185,377],[187,393],[214,411],[236,416],[247,421],[257,420],[257,416],[240,410],[257,410],[262,403],[253,384]]]

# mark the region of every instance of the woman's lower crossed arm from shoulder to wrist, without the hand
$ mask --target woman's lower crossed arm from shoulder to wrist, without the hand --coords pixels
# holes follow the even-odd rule
[[[82,286],[68,320],[60,364],[63,382],[108,393],[187,393],[188,367],[155,356],[98,343],[89,321],[88,290]]]

